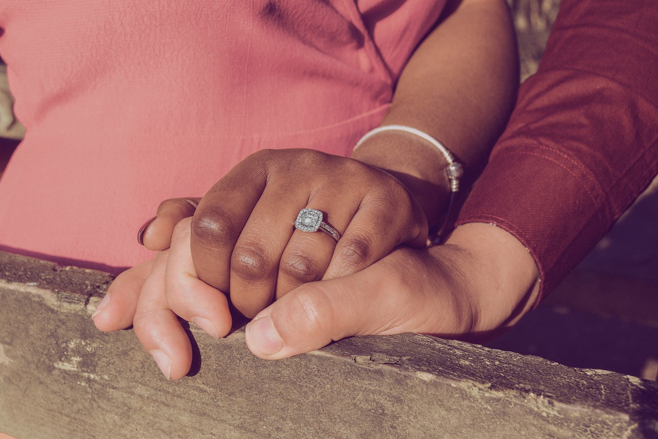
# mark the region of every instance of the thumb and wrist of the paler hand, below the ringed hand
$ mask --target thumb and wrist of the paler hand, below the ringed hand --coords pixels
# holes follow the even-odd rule
[[[367,269],[300,286],[247,324],[245,340],[281,359],[355,335],[403,332],[482,342],[534,304],[534,259],[511,234],[465,224],[445,245],[399,247]]]

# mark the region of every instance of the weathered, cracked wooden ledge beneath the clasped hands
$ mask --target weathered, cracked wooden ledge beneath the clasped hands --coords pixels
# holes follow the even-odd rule
[[[265,361],[195,328],[168,382],[91,311],[111,276],[0,253],[0,431],[22,438],[651,438],[658,384],[430,336]]]

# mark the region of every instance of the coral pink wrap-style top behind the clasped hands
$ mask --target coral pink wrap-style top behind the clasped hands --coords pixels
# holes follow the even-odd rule
[[[245,156],[347,155],[445,0],[3,0],[27,128],[0,181],[0,249],[119,271],[136,231]]]

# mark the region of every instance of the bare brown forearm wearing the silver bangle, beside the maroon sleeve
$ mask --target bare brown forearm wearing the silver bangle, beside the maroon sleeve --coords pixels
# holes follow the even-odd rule
[[[382,125],[403,124],[430,134],[472,178],[507,122],[518,82],[506,3],[465,0],[443,14],[411,57]],[[363,143],[353,158],[392,171],[420,201],[430,224],[438,221],[449,184],[447,163],[432,145],[386,132]]]

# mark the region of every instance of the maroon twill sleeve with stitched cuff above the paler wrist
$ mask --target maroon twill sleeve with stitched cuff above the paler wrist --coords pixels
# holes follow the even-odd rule
[[[457,224],[516,236],[551,292],[658,173],[658,3],[562,0]]]

